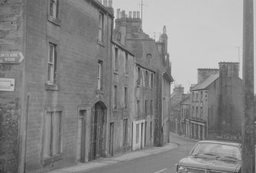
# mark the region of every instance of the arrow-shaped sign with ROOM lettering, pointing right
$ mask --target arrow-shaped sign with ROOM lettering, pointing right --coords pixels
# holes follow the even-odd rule
[[[0,63],[19,64],[23,59],[21,52],[0,52]]]

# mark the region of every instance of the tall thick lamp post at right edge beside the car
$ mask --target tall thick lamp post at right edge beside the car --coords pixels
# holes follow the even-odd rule
[[[241,124],[241,172],[255,172],[254,149],[254,17],[253,0],[244,0],[243,89],[244,114]]]

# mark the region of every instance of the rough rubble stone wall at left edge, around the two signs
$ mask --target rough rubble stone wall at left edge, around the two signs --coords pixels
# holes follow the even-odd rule
[[[0,51],[23,50],[24,0],[0,1]],[[0,91],[0,172],[16,173],[21,122],[21,64],[0,64],[0,78],[15,78],[15,91]]]

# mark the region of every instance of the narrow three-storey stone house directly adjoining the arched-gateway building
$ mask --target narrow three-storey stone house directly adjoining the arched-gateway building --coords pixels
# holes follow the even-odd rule
[[[112,41],[112,97],[110,106],[109,153],[131,151],[134,116],[134,66],[132,53]]]

